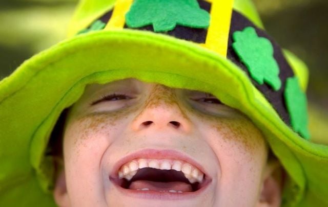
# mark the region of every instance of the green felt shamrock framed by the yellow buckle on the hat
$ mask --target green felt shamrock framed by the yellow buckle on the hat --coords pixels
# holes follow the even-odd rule
[[[135,0],[126,24],[130,28],[153,25],[154,32],[168,32],[176,25],[208,28],[210,14],[196,0]]]

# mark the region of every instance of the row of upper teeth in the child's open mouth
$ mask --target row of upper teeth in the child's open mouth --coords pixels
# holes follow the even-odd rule
[[[119,169],[118,177],[120,179],[126,178],[130,181],[141,168],[155,168],[160,170],[172,169],[182,171],[191,183],[197,181],[202,182],[204,177],[204,174],[195,166],[181,160],[174,159],[134,159]]]

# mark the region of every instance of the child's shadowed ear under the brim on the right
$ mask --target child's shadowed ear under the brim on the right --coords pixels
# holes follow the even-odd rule
[[[279,207],[282,192],[282,168],[278,160],[271,160],[264,170],[262,190],[260,192],[258,207]]]

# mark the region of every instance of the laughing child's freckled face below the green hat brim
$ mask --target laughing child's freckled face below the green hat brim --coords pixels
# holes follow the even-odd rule
[[[67,119],[66,182],[58,179],[55,199],[71,206],[255,206],[261,203],[267,154],[253,123],[209,94],[135,79],[90,85]],[[130,190],[118,186],[118,170],[128,169],[120,167],[135,160],[134,170],[139,159],[148,160],[140,168],[178,169],[180,162],[187,174],[192,165],[205,174],[203,184],[188,192],[192,186],[174,178],[175,170],[145,168]],[[171,182],[160,182],[160,172],[169,172]],[[151,175],[153,182],[147,181]]]

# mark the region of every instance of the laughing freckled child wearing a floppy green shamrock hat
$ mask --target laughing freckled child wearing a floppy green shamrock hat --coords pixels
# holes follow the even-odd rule
[[[85,0],[69,34],[0,83],[1,206],[328,204],[307,71],[249,1]]]

